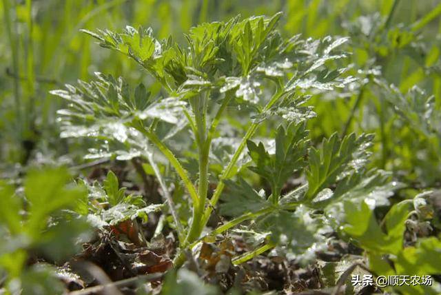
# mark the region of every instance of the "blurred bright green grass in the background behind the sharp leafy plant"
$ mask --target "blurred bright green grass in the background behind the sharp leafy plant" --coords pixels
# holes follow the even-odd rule
[[[350,67],[380,66],[382,79],[403,93],[419,85],[434,94],[435,110],[439,110],[441,5],[437,0],[2,0],[1,170],[10,173],[11,167],[34,161],[81,159],[76,158],[75,145],[59,139],[56,111],[63,102],[49,90],[76,79],[87,81],[99,70],[132,83],[143,81],[153,92],[159,91],[136,63],[101,50],[79,29],[121,31],[126,25],[150,26],[158,38],[172,34],[183,41],[182,33],[197,23],[278,11],[284,12],[280,24],[284,34],[350,36]],[[311,100],[318,113],[310,126],[313,139],[335,131],[375,132],[373,165],[402,173],[420,185],[433,185],[440,179],[437,132],[415,134],[409,124],[400,124],[393,105],[369,88],[369,83],[362,95],[348,93]]]

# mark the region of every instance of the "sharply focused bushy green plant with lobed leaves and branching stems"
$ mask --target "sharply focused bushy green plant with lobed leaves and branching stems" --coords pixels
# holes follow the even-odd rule
[[[79,86],[67,85],[66,90],[52,91],[68,101],[69,108],[59,111],[62,136],[92,136],[101,140],[102,147],[91,150],[92,157],[143,156],[154,167],[174,216],[181,250],[201,238],[226,184],[236,187],[237,195],[233,203],[229,204],[226,199],[223,210],[230,216],[239,216],[212,234],[249,219],[262,219],[256,223],[257,230],[272,231],[269,243],[237,258],[235,263],[283,244],[284,231],[293,226],[299,231],[306,228],[302,232],[307,239],[299,247],[304,250],[317,238],[323,240],[320,233],[314,232],[329,223],[326,215],[314,212],[336,210],[341,199],[359,200],[375,191],[382,190],[387,197],[395,188],[388,184],[387,174],[367,170],[370,135],[351,134],[340,140],[334,134],[323,141],[320,150],[309,148],[304,122],[314,117],[314,112],[303,105],[309,93],[343,88],[355,80],[343,76],[345,68],[338,68],[338,61],[347,56],[338,51],[338,47],[347,38],[303,41],[295,36],[284,39],[276,30],[280,16],[251,17],[243,21],[236,17],[226,23],[203,23],[185,35],[187,48],[174,43],[172,38],[154,39],[150,29],[127,27],[122,34],[109,30],[85,31],[104,48],[121,52],[139,63],[161,83],[163,95],[152,97],[142,84],[131,92],[121,77],[114,79],[101,73],[96,74],[96,81],[79,81]],[[227,157],[223,170],[215,172],[217,186],[209,199],[210,150],[213,139],[223,136],[217,127],[229,106],[239,109],[236,113],[230,110],[230,116],[249,117],[245,120],[247,132],[238,148]],[[283,123],[285,127],[278,128],[274,153],[263,143],[257,145],[250,141],[263,121],[280,118],[286,123]],[[187,132],[187,126],[197,150],[195,183],[192,183],[193,175],[181,165],[183,150],[166,145],[178,132]],[[192,201],[189,228],[183,228],[178,219],[149,143],[165,156],[186,187]],[[243,159],[246,147],[249,159]],[[233,184],[229,180],[245,171],[243,168],[249,163],[254,163],[249,167],[253,172],[267,180],[269,192],[258,194],[245,181]],[[283,185],[295,172],[305,173],[307,184],[283,196]],[[329,187],[335,183],[336,190],[332,192]],[[384,198],[377,201],[387,203]],[[238,202],[241,202],[241,212],[226,209],[238,208]],[[305,224],[308,221],[309,224]],[[302,241],[291,235],[289,238],[293,241],[291,245]],[[182,254],[176,256],[175,263],[183,263]]]

